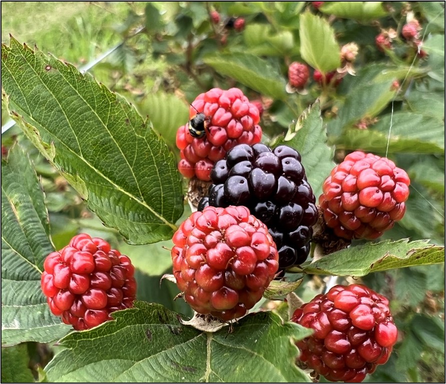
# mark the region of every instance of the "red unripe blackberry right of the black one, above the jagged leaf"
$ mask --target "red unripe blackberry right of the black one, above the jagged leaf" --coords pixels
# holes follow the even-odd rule
[[[393,161],[350,153],[322,185],[324,221],[338,237],[376,239],[403,217],[409,184],[407,173]]]

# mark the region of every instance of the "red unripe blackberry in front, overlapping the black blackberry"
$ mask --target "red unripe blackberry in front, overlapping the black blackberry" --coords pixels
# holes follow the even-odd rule
[[[198,313],[228,321],[260,300],[278,269],[268,228],[246,207],[206,207],[172,238],[173,272],[184,299]]]

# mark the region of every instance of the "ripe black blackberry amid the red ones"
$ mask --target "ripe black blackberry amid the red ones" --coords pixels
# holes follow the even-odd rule
[[[279,251],[279,270],[305,261],[317,208],[300,154],[285,145],[240,144],[211,171],[209,196],[200,201],[227,207],[244,205],[268,227]]]

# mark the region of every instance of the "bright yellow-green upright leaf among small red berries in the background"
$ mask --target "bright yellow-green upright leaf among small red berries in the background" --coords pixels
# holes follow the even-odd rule
[[[340,67],[340,49],[330,24],[305,12],[300,15],[300,54],[311,67],[327,73]]]

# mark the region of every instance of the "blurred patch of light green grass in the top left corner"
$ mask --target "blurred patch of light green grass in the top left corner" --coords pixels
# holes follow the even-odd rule
[[[143,8],[127,2],[2,2],[2,43],[11,34],[82,65],[122,41],[119,31],[131,11]]]

